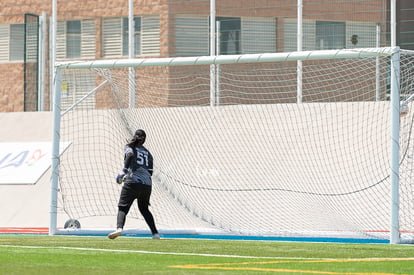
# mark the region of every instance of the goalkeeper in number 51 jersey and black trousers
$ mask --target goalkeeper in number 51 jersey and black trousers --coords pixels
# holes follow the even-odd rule
[[[145,131],[139,129],[125,146],[123,173],[116,178],[117,183],[124,183],[118,202],[117,230],[108,235],[110,239],[115,239],[122,234],[126,216],[135,199],[138,201],[140,213],[151,229],[152,238],[160,238],[154,217],[148,209],[152,190],[153,158],[148,149],[143,146],[145,139]]]

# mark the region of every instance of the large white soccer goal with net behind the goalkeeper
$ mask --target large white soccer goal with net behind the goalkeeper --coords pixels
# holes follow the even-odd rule
[[[50,234],[114,229],[123,147],[143,128],[161,234],[411,241],[413,57],[372,48],[59,63]],[[136,208],[127,229],[148,231]]]

